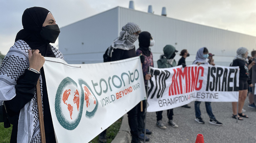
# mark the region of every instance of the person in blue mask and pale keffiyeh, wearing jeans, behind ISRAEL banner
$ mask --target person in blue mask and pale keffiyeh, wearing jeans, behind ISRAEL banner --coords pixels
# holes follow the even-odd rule
[[[196,53],[196,60],[193,62],[193,64],[206,64],[209,65],[208,63],[208,49],[206,47],[202,47],[200,48],[197,53]],[[200,124],[204,124],[205,122],[203,121],[203,119],[201,118],[201,111],[200,111],[200,101],[195,101],[195,112],[196,112],[196,119],[195,121],[200,123]],[[205,102],[205,107],[206,107],[206,111],[210,117],[210,124],[213,125],[218,125],[221,126],[222,123],[220,123],[219,121],[216,120],[215,116],[212,113],[212,109],[211,109],[211,102]]]

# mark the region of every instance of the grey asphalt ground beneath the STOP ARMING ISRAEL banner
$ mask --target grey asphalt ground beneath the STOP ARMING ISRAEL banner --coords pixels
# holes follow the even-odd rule
[[[223,123],[222,126],[209,124],[209,116],[205,109],[205,103],[200,104],[201,118],[205,124],[199,124],[195,121],[194,102],[189,106],[191,108],[174,108],[173,121],[179,126],[171,127],[167,122],[167,113],[163,112],[163,123],[167,129],[161,129],[156,126],[156,113],[147,112],[146,128],[153,133],[147,135],[150,138],[148,143],[153,142],[172,142],[172,143],[195,143],[197,134],[204,136],[205,143],[225,143],[225,142],[256,142],[256,109],[247,107],[248,98],[245,101],[245,114],[249,118],[243,118],[243,121],[231,118],[232,106],[227,102],[212,102],[212,111],[216,119]]]

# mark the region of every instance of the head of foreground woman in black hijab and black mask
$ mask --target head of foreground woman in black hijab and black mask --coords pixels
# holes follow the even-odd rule
[[[47,17],[51,21],[46,21]],[[50,25],[44,26],[45,21]],[[24,40],[32,50],[38,49],[42,56],[55,57],[49,43],[55,43],[60,30],[49,10],[42,7],[26,9],[22,25],[24,29],[17,33],[15,41]]]

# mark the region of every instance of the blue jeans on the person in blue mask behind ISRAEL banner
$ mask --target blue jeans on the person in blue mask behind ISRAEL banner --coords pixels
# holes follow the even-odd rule
[[[201,118],[200,103],[200,101],[195,101],[196,118]],[[215,120],[216,118],[214,117],[211,110],[211,102],[205,102],[205,108],[210,119]]]

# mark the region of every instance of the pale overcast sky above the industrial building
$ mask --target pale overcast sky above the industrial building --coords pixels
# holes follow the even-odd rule
[[[155,15],[161,15],[162,7],[166,7],[170,18],[256,36],[255,0],[134,0],[135,10],[147,12],[148,5],[152,5]],[[56,23],[63,27],[117,6],[128,8],[129,0],[1,0],[2,54],[8,52],[23,28],[23,11],[34,6],[51,11]]]

